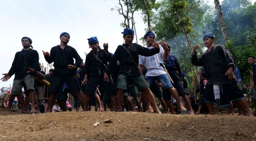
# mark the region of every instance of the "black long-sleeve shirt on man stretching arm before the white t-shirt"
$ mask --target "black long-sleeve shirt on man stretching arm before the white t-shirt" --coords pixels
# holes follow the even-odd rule
[[[128,45],[126,44],[123,44],[123,46],[125,46],[130,51],[131,55],[133,56],[137,64],[138,64],[139,55],[148,57],[148,56],[153,56],[156,53],[159,53],[159,49],[144,48],[143,46],[137,43],[132,43],[130,48],[128,48]],[[106,69],[106,73],[110,75],[117,61],[119,61],[120,62],[119,75],[120,74],[140,75],[139,69],[133,63],[133,58],[130,56],[128,51],[124,49],[124,47],[119,45],[117,47],[117,50],[114,53],[114,56],[110,61],[108,68]]]

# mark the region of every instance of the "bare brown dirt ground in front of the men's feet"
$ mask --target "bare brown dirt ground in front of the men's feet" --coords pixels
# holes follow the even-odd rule
[[[113,123],[96,122],[112,119]],[[119,122],[120,121],[120,122]],[[256,141],[256,117],[135,112],[20,114],[0,108],[2,141]]]

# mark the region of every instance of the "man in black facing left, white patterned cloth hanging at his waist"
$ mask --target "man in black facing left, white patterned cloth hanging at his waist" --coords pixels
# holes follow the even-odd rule
[[[223,45],[214,45],[213,33],[206,33],[202,39],[208,50],[197,58],[196,50],[199,49],[199,45],[194,46],[191,59],[193,65],[203,66],[206,74],[205,101],[209,114],[214,115],[213,103],[221,107],[230,105],[230,101],[238,100],[239,104],[247,110],[247,115],[253,116],[234,78],[235,58]]]

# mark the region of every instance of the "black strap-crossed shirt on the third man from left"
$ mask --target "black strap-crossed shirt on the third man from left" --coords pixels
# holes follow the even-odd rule
[[[97,52],[93,52],[91,50],[90,53],[88,53],[85,58],[84,74],[87,74],[90,77],[97,76],[97,75],[104,75],[106,67],[92,53],[96,55],[106,66],[108,66],[108,62],[110,62],[111,60],[110,54],[109,56],[107,56],[105,50],[102,50],[100,48]]]

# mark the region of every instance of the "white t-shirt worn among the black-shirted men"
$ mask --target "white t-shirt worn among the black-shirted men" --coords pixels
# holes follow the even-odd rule
[[[152,49],[153,47],[149,47],[148,49]],[[164,52],[165,50],[161,45],[159,45],[159,53],[150,56],[139,56],[139,65],[146,65],[147,73],[146,76],[158,76],[166,74],[163,66],[160,65],[160,63],[164,64]]]

